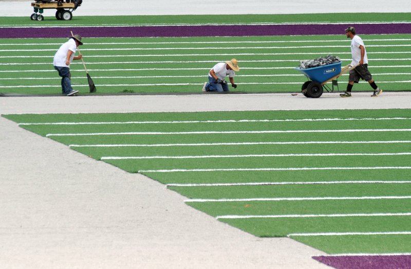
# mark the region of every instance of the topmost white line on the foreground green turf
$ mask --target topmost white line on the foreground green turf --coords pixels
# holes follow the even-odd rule
[[[394,118],[323,118],[323,119],[240,119],[240,120],[173,120],[173,121],[96,121],[96,122],[25,122],[18,125],[85,125],[85,124],[164,124],[164,123],[243,123],[243,122],[298,122],[298,121],[346,121],[346,120],[409,120]]]

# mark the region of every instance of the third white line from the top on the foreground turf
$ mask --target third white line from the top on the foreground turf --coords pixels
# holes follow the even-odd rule
[[[69,147],[193,147],[193,146],[242,146],[242,145],[307,145],[307,144],[397,144],[411,143],[405,141],[294,141],[294,142],[239,142],[239,143],[194,143],[194,144],[97,144],[97,145],[74,145]]]

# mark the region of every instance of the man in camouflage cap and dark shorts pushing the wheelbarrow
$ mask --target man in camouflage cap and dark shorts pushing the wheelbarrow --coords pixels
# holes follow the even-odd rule
[[[371,73],[368,71],[368,58],[367,51],[365,50],[363,40],[356,35],[356,28],[348,27],[345,29],[345,34],[347,38],[351,39],[351,56],[352,62],[351,66],[357,66],[350,70],[347,90],[345,93],[340,94],[341,97],[351,97],[351,89],[354,83],[358,83],[360,79],[367,81],[370,86],[374,89],[374,93],[371,97],[377,97],[382,93],[374,80],[372,79]]]

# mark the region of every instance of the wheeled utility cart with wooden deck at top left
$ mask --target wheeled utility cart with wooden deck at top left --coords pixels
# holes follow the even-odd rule
[[[72,12],[81,6],[82,3],[83,0],[36,0],[31,3],[34,13],[31,14],[30,19],[32,21],[43,21],[44,9],[57,9],[55,18],[57,20],[69,21],[73,17]]]

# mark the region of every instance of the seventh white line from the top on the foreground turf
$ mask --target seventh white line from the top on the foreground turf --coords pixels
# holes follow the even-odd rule
[[[290,197],[290,198],[238,198],[238,199],[187,199],[184,203],[272,202],[272,201],[327,201],[327,200],[396,200],[411,196],[351,196],[351,197]]]

